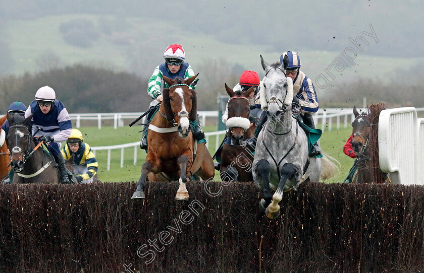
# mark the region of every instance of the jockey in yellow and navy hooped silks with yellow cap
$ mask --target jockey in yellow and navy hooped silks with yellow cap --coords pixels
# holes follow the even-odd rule
[[[66,146],[62,148],[62,155],[69,160],[74,155],[75,177],[79,183],[93,182],[93,176],[97,173],[98,163],[88,144],[83,143],[84,138],[78,129],[72,129]]]

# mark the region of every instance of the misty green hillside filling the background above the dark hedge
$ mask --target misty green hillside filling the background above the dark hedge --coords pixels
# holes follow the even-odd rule
[[[25,78],[29,72],[36,78],[39,73],[82,65],[134,74],[145,82],[163,61],[164,49],[179,43],[185,48],[186,60],[200,73],[202,108],[216,109],[216,95],[225,94],[224,83],[233,86],[243,70],[264,76],[260,54],[272,63],[283,51],[294,50],[301,57],[302,71],[319,90],[321,104],[351,107],[364,96],[370,96],[368,101],[385,99],[387,95],[371,95],[383,93],[378,90],[386,86],[396,93],[394,97],[420,90],[409,85],[423,76],[424,37],[417,35],[424,21],[423,7],[417,1],[394,0],[301,4],[103,0],[101,5],[81,0],[5,0],[0,3],[0,76]],[[408,81],[410,74],[416,79]],[[403,85],[396,80],[398,76]],[[40,79],[43,84],[55,82]],[[90,88],[59,86],[71,92],[66,97],[90,96]],[[135,99],[142,101],[141,105],[150,100],[146,88],[144,84],[138,87],[140,95]],[[115,95],[133,98],[134,90],[132,87],[128,96],[122,94],[125,90]],[[101,109],[93,104],[76,109]],[[144,106],[130,108],[144,111]]]

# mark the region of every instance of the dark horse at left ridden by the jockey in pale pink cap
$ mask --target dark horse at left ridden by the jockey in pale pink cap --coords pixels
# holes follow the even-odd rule
[[[7,114],[10,124],[8,140],[11,167],[15,171],[12,183],[58,184],[59,171],[55,161],[40,145],[36,145],[31,134],[32,115],[25,118]]]

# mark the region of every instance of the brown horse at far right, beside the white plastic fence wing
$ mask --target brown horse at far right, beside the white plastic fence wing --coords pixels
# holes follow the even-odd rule
[[[355,120],[352,122],[352,149],[356,155],[354,164],[357,166],[357,171],[353,175],[352,183],[373,183],[368,151],[370,119],[367,114],[359,114],[355,106],[353,114]]]

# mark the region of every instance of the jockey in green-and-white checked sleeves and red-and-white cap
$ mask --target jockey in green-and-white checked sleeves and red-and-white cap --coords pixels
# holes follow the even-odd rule
[[[169,88],[168,84],[164,82],[162,76],[166,76],[170,79],[175,79],[181,77],[183,79],[188,79],[193,77],[194,71],[191,68],[190,64],[185,62],[185,52],[184,48],[179,44],[172,44],[165,49],[164,52],[165,62],[161,65],[158,65],[154,71],[153,75],[149,79],[147,93],[152,99],[155,99],[150,103],[149,109],[162,103],[162,90],[164,88]],[[190,89],[196,89],[196,80],[191,83]],[[147,151],[147,128],[150,118],[153,115],[153,111],[149,111],[146,116],[146,125],[143,128],[143,135],[140,142],[140,148]],[[203,140],[204,132],[200,127],[200,122],[198,117],[195,121],[190,121],[192,128],[193,137],[195,140]]]

